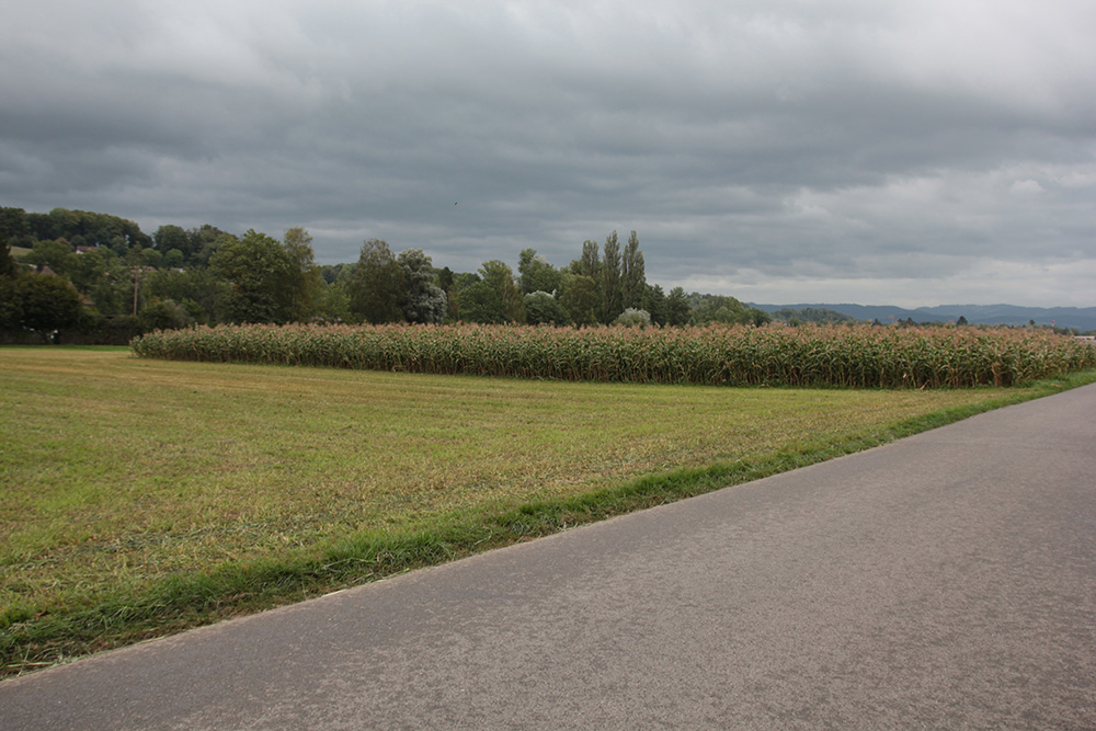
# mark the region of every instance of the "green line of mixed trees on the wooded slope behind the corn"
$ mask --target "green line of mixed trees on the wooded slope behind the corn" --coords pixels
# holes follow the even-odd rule
[[[491,260],[476,272],[435,267],[422,249],[369,239],[353,263],[319,265],[312,237],[281,239],[212,225],[160,226],[55,208],[0,208],[0,331],[57,330],[124,341],[152,329],[229,322],[484,322],[556,325],[710,321],[761,324],[733,297],[665,293],[647,281],[636,231],[586,240],[569,264],[535,249],[517,271]]]

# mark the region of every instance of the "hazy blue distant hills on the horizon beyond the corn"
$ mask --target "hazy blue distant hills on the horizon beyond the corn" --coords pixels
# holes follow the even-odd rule
[[[960,317],[967,318],[971,324],[1027,324],[1035,320],[1036,324],[1055,324],[1059,328],[1073,328],[1081,332],[1096,330],[1096,307],[1018,307],[1016,305],[939,305],[937,307],[918,307],[905,309],[892,305],[758,305],[747,302],[765,312],[778,312],[783,309],[825,309],[847,315],[857,320],[893,320],[913,319],[914,322],[951,322]]]

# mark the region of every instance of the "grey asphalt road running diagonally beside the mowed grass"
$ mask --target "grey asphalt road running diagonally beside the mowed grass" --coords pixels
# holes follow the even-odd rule
[[[12,729],[1096,728],[1096,386],[0,683]]]

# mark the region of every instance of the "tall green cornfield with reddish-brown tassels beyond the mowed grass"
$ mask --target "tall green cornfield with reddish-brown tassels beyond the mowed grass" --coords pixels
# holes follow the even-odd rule
[[[726,386],[1012,386],[1096,367],[1096,347],[1007,328],[219,325],[156,331],[139,357]]]

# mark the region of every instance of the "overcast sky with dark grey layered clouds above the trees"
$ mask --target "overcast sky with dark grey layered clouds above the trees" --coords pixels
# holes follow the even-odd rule
[[[1091,0],[0,0],[0,205],[1096,306]],[[456,205],[454,205],[456,204]]]

